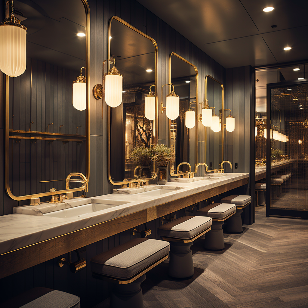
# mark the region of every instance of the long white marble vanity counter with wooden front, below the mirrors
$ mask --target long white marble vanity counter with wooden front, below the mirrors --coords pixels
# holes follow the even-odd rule
[[[0,254],[2,254],[0,255],[0,265],[8,266],[7,271],[3,274],[0,274],[0,278],[81,247],[79,245],[84,246],[91,244],[95,241],[109,237],[112,234],[120,233],[131,227],[140,225],[141,223],[151,221],[157,217],[161,217],[165,214],[168,214],[167,212],[169,209],[171,213],[174,211],[175,205],[178,207],[177,209],[184,208],[187,206],[188,202],[192,202],[191,204],[196,202],[196,198],[192,196],[194,194],[198,193],[198,196],[200,196],[200,192],[209,194],[211,188],[215,188],[214,191],[218,191],[217,194],[219,194],[226,191],[224,188],[225,184],[234,182],[233,187],[229,188],[232,189],[247,184],[248,179],[248,173],[228,173],[222,178],[212,180],[199,180],[192,183],[180,183],[180,185],[179,183],[168,183],[168,186],[180,186],[181,189],[174,189],[168,193],[156,196],[147,195],[144,193],[112,193],[92,198],[74,198],[71,200],[66,200],[63,202],[66,205],[62,205],[61,203],[56,205],[47,205],[42,203],[40,208],[39,206],[30,205],[18,207],[19,209],[16,208],[15,211],[20,210],[20,213],[23,212],[22,209],[27,211],[33,209],[34,211],[39,211],[42,214],[26,215],[14,213],[0,217]],[[158,185],[153,184],[153,186]],[[230,187],[230,185],[228,187]],[[219,189],[221,189],[221,192],[219,192]],[[178,199],[187,200],[187,202],[185,204],[182,202],[173,202]],[[96,204],[107,204],[111,206],[102,210],[93,211],[91,213],[82,214],[80,216],[73,215],[67,218],[47,217],[43,215],[43,212],[55,213],[55,210],[47,210],[48,207],[50,208],[51,206],[67,207],[67,205],[69,205],[69,207],[74,207],[79,205],[86,205],[91,202]],[[168,207],[168,204],[170,204],[170,207]],[[105,225],[108,225],[108,228],[104,229]],[[93,231],[91,231],[91,228],[93,228]],[[95,234],[93,235],[91,232]],[[111,232],[113,233],[111,234]],[[65,241],[66,237],[68,241],[68,243],[66,243],[67,245],[56,244],[56,242],[59,240]],[[70,239],[68,239],[68,237],[70,237]],[[53,245],[58,245],[56,247],[59,249],[49,248],[48,258],[44,257],[42,249],[44,246],[51,242],[55,242]],[[37,244],[39,246],[36,247],[36,245],[33,244]],[[24,252],[23,256],[27,256],[27,253],[30,253],[31,249],[36,249],[35,251],[37,251],[38,248],[42,251],[40,252],[41,254],[37,257],[37,261],[32,260],[36,258],[36,256],[33,255],[28,256],[29,260],[24,262],[28,262],[28,264],[20,264],[22,262],[14,261],[18,260],[20,253],[20,250],[15,251],[16,249],[25,249],[24,251],[27,252]],[[69,250],[65,251],[61,249]],[[13,267],[16,267],[16,269],[14,270]]]

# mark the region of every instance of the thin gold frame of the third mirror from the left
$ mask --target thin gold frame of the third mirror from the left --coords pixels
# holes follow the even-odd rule
[[[171,83],[171,56],[175,55],[176,57],[178,57],[179,59],[183,60],[184,62],[188,63],[189,65],[191,65],[196,72],[196,111],[195,111],[195,167],[198,164],[198,83],[199,83],[199,73],[198,73],[198,68],[193,65],[192,63],[190,63],[189,61],[187,61],[186,59],[184,59],[183,57],[181,57],[180,55],[176,54],[175,52],[172,52],[169,56],[169,83]],[[163,98],[161,98],[163,100]],[[169,147],[171,144],[171,120],[169,120]],[[175,167],[175,166],[174,166]],[[169,172],[170,173],[170,172]],[[170,173],[171,176],[176,176],[176,175],[172,175]]]

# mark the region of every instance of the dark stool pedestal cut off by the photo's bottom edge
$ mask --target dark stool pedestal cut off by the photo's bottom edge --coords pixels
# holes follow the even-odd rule
[[[145,274],[128,284],[114,284],[110,297],[110,308],[144,308],[141,282]]]

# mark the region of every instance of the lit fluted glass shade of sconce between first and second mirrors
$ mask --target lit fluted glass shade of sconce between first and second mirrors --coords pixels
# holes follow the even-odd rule
[[[105,76],[105,102],[110,107],[117,107],[122,103],[123,76],[107,74]]]

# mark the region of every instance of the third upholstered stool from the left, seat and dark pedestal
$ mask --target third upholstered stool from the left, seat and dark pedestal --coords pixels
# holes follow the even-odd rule
[[[157,234],[170,242],[168,274],[176,278],[193,276],[193,241],[211,229],[210,217],[184,216],[161,225]]]

